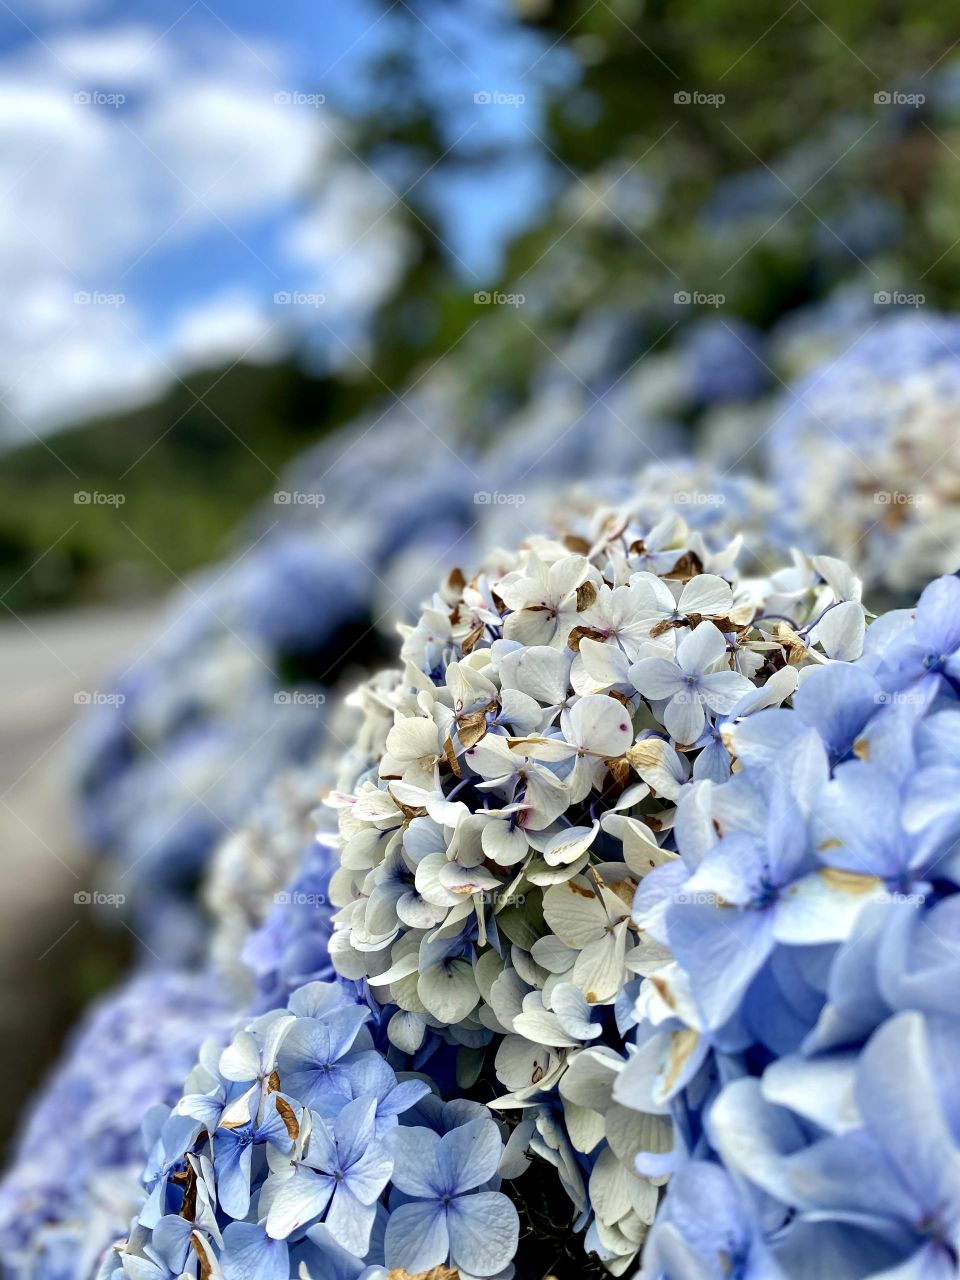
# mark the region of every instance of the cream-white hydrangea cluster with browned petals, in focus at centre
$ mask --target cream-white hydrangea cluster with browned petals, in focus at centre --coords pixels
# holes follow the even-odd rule
[[[394,1052],[434,1071],[456,1055],[456,1087],[522,1116],[517,1142],[616,1274],[658,1201],[635,1157],[669,1124],[595,1111],[571,1065],[621,1042],[625,993],[668,959],[632,919],[637,886],[677,861],[681,797],[730,778],[732,727],[864,640],[846,566],[742,577],[739,541],[605,509],[453,575],[404,628],[378,765],[330,797],[338,973],[374,993]]]

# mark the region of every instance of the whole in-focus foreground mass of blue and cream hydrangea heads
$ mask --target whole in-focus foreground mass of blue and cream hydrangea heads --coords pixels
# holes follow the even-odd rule
[[[952,1274],[960,581],[740,543],[599,509],[403,628],[101,1276]]]

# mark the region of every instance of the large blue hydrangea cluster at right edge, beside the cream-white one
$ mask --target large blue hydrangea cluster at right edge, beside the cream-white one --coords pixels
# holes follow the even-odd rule
[[[960,580],[731,726],[632,919],[626,1053],[568,1075],[671,1125],[641,1275],[952,1276],[960,1257]],[[626,993],[625,993],[626,995]],[[582,1064],[582,1065],[580,1065]]]

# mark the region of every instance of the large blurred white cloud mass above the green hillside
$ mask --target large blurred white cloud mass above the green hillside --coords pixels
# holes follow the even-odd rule
[[[323,292],[355,333],[403,242],[389,215],[371,229],[389,201],[323,111],[284,100],[276,50],[186,23],[45,38],[0,59],[0,439],[275,355],[317,317],[278,324],[279,289]]]

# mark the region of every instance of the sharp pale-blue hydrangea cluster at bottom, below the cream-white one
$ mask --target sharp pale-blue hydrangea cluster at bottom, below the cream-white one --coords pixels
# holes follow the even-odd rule
[[[516,1157],[483,1105],[398,1078],[375,1016],[348,984],[314,982],[207,1046],[180,1101],[147,1117],[147,1199],[101,1280],[503,1272]]]

